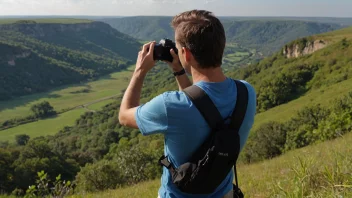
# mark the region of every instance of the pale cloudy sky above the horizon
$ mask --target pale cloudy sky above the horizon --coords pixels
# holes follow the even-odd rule
[[[352,17],[352,0],[0,0],[0,15],[173,16],[191,9],[217,16]]]

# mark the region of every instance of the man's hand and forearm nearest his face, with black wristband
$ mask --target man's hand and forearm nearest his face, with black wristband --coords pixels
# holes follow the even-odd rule
[[[181,71],[183,69],[183,67],[180,63],[180,59],[178,58],[178,55],[174,52],[173,49],[170,50],[170,54],[173,57],[172,63],[167,62],[167,61],[165,61],[165,62],[167,62],[169,64],[169,66],[171,67],[173,72]],[[182,75],[176,76],[176,81],[177,81],[178,88],[180,91],[182,91],[183,89],[192,85],[187,74],[182,74]]]

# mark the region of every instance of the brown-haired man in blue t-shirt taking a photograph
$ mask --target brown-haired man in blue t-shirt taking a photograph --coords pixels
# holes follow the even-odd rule
[[[235,82],[227,78],[221,70],[225,32],[221,22],[211,12],[192,10],[181,13],[173,18],[172,26],[178,55],[173,50],[170,51],[173,62],[169,65],[175,72],[180,91],[165,92],[144,105],[139,104],[143,80],[155,65],[155,42],[147,43],[138,54],[135,71],[121,103],[119,121],[124,126],[139,128],[143,135],[164,134],[165,156],[178,167],[187,162],[210,134],[208,124],[182,92],[192,85],[183,69],[192,75],[193,84],[209,95],[223,118],[230,116],[234,110],[237,88]],[[241,149],[254,122],[256,109],[253,87],[245,81],[242,82],[247,86],[249,100],[239,132]],[[232,197],[232,181],[231,171],[212,194],[186,194],[173,185],[170,173],[164,167],[159,197]]]

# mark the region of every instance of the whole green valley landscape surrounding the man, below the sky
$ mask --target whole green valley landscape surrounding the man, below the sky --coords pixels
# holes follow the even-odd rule
[[[239,158],[246,197],[352,196],[352,28],[325,18],[221,20],[223,71],[257,92]],[[164,139],[122,126],[118,110],[143,41],[173,38],[170,17],[101,21],[0,19],[0,124],[43,101],[58,112],[0,130],[0,192],[24,195],[43,170],[75,181],[72,198],[157,196]],[[165,64],[145,82],[141,103],[177,90]]]

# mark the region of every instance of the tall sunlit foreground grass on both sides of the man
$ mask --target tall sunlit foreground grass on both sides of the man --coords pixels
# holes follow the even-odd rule
[[[283,156],[238,167],[239,184],[246,197],[352,197],[352,133],[290,151]],[[160,180],[83,197],[156,198]]]

